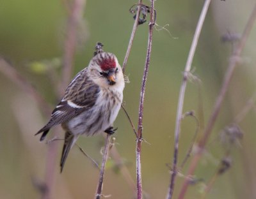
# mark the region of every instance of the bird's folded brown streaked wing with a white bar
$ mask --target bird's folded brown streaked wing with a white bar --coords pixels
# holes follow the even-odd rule
[[[99,91],[99,85],[88,78],[86,70],[78,73],[68,85],[64,98],[53,110],[50,121],[44,128],[38,131],[38,133],[45,132],[40,140],[44,140],[47,131],[49,131],[52,126],[67,122],[81,114],[81,112],[93,107],[99,95]],[[38,133],[36,133],[36,135]]]

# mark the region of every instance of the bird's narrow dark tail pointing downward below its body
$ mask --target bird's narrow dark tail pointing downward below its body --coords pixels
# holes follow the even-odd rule
[[[73,135],[69,131],[67,131],[65,133],[65,142],[64,142],[64,145],[63,145],[62,154],[61,154],[61,161],[60,161],[60,172],[62,172],[65,161],[66,161],[67,156],[68,156],[68,152],[73,147],[73,145],[76,143],[77,138],[78,138],[77,135]]]

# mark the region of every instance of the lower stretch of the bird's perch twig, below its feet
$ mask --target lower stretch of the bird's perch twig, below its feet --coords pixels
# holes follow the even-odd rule
[[[101,165],[101,168],[100,168],[99,184],[98,184],[98,188],[97,188],[97,193],[95,195],[96,199],[100,199],[101,196],[102,196],[104,171],[105,171],[106,162],[108,160],[108,151],[109,151],[110,140],[111,140],[111,135],[108,134],[107,137],[106,137],[106,144],[105,144],[105,147],[104,147],[104,154],[103,154],[103,157],[102,157],[102,165]]]

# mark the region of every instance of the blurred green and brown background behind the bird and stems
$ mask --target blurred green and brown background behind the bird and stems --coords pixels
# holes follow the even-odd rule
[[[60,62],[68,18],[64,2],[0,2],[0,55],[36,87],[52,108],[58,101],[44,67],[56,65],[51,70],[61,73]],[[84,20],[79,26],[79,45],[74,58],[73,75],[87,66],[97,41],[104,43],[104,50],[115,53],[119,62],[123,62],[134,22],[129,8],[135,3],[86,1]],[[150,4],[149,1],[145,3]],[[156,1],[158,26],[154,30],[143,119],[143,137],[150,144],[143,143],[141,154],[143,189],[150,198],[164,198],[168,190],[170,174],[166,164],[171,163],[173,156],[173,132],[182,71],[203,3]],[[184,104],[184,112],[195,110],[197,117],[198,103],[203,104],[205,124],[220,91],[232,49],[230,43],[221,43],[220,38],[228,32],[241,34],[254,4],[253,0],[214,0],[211,3],[193,61],[194,74],[202,81],[200,92],[203,103],[198,99],[198,84],[190,82]],[[170,34],[165,30],[157,31],[166,24],[169,24],[166,29]],[[124,102],[134,124],[138,119],[147,38],[147,24],[139,26],[125,72],[130,83],[125,87]],[[253,27],[241,64],[236,68],[209,138],[207,152],[196,169],[196,178],[204,181],[190,186],[186,198],[200,198],[202,195],[205,183],[214,175],[219,161],[225,156],[225,147],[219,139],[221,129],[234,121],[234,117],[243,110],[255,92],[255,41],[256,28]],[[47,145],[40,143],[39,137],[33,135],[49,117],[44,117],[35,100],[1,73],[0,91],[0,198],[40,198],[31,179],[44,181]],[[232,147],[232,167],[216,179],[207,198],[256,198],[255,119],[254,108],[239,123],[244,137],[240,144]],[[202,120],[200,122],[203,123]],[[118,126],[116,147],[136,181],[135,136],[122,110],[115,126]],[[180,163],[186,155],[195,129],[195,119],[184,119],[180,137]],[[104,143],[102,136],[81,137],[78,143],[100,163],[100,147]],[[74,147],[64,172],[60,174],[62,145],[62,142],[58,142],[52,198],[93,198],[99,171]],[[188,165],[189,161],[182,170],[184,175]],[[174,198],[177,198],[183,181],[184,177],[177,178]],[[120,172],[115,170],[111,160],[106,170],[103,193],[111,195],[111,198],[134,198],[132,189]]]

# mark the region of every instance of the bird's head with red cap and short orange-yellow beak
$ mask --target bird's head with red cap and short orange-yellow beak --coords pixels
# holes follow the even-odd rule
[[[93,81],[102,87],[115,87],[124,84],[122,68],[116,56],[102,52],[93,57],[88,66]]]

